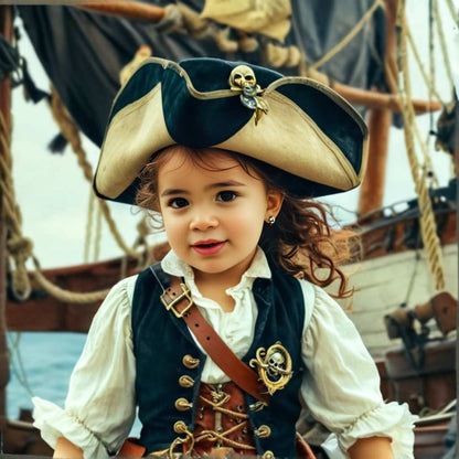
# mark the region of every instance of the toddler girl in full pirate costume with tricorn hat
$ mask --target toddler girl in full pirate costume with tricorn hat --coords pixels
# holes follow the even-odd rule
[[[161,263],[116,285],[65,409],[34,398],[55,457],[297,457],[300,398],[330,457],[413,458],[414,416],[322,287],[349,295],[323,207],[366,160],[359,114],[321,84],[211,58],[147,60],[115,99],[95,178],[159,213]],[[331,441],[330,441],[331,442]]]

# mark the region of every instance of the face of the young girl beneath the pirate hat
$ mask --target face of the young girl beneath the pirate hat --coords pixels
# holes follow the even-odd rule
[[[237,282],[282,196],[267,192],[255,173],[224,151],[207,151],[211,170],[193,163],[180,147],[168,151],[158,170],[160,210],[172,249],[194,269],[196,280],[224,274]]]

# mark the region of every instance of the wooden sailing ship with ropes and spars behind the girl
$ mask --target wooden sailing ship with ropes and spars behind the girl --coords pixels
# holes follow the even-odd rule
[[[290,4],[289,1],[282,3]],[[403,65],[403,62],[401,63],[403,53],[399,54],[399,50],[406,46],[407,40],[403,33],[405,2],[403,0],[362,1],[361,10],[356,12],[356,17],[361,15],[362,20],[366,18],[365,20],[370,21],[372,18],[373,28],[384,25],[383,29],[386,30],[378,41],[378,44],[383,45],[380,47],[384,50],[380,50],[380,57],[383,58],[383,63],[380,64],[383,71],[378,84],[371,81],[367,75],[356,77],[354,73],[349,72],[349,64],[348,67],[345,65],[348,57],[351,57],[351,66],[355,64],[355,55],[360,53],[359,46],[362,46],[362,43],[359,43],[353,52],[350,51],[346,58],[342,57],[344,64],[341,62],[341,66],[337,64],[335,68],[327,67],[327,72],[318,71],[321,68],[322,58],[332,58],[334,54],[340,56],[340,45],[345,47],[349,41],[359,34],[364,23],[362,21],[355,21],[355,26],[340,36],[341,42],[332,42],[332,45],[325,50],[327,53],[323,53],[322,46],[324,55],[320,55],[317,54],[318,50],[316,54],[313,50],[305,50],[305,44],[301,43],[303,39],[301,26],[307,24],[298,22],[298,18],[303,18],[306,11],[300,0],[291,1],[293,32],[287,36],[282,45],[279,44],[278,38],[273,39],[265,33],[266,31],[235,30],[222,18],[215,15],[204,18],[199,14],[203,7],[204,1],[183,2],[181,9],[159,7],[154,1],[85,1],[72,6],[20,7],[18,10],[11,6],[1,6],[1,33],[10,43],[14,42],[13,15],[21,15],[29,28],[32,42],[39,50],[38,54],[42,63],[47,65],[47,73],[61,98],[55,97],[54,103],[51,104],[53,114],[63,137],[75,152],[81,149],[76,125],[93,141],[100,143],[109,104],[119,84],[117,75],[122,68],[129,71],[129,65],[126,64],[136,53],[137,57],[134,62],[149,55],[151,49],[160,50],[160,56],[174,60],[190,55],[207,55],[234,60],[250,58],[254,63],[265,65],[268,62],[281,73],[301,74],[321,79],[332,85],[351,103],[364,107],[371,131],[370,161],[361,186],[359,217],[355,224],[351,225],[361,234],[362,257],[359,261],[346,266],[351,282],[355,286],[355,295],[352,305],[343,301],[343,307],[349,311],[350,318],[360,330],[377,363],[385,398],[406,402],[414,413],[421,416],[416,426],[415,457],[440,458],[444,453],[445,435],[456,406],[457,183],[451,180],[447,188],[428,189],[425,177],[419,173],[423,164],[416,163],[413,157],[413,177],[417,181],[418,196],[406,202],[402,211],[396,211],[393,206],[383,207],[382,203],[388,130],[394,113],[403,117],[406,128],[408,124],[414,122],[416,115],[442,109],[441,116],[446,118],[446,122],[441,129],[438,129],[438,134],[441,131],[442,136],[438,136],[437,142],[451,154],[451,160],[456,163],[456,173],[459,130],[455,129],[455,126],[459,114],[456,106],[446,107],[434,97],[431,100],[415,99],[407,90],[406,82],[403,85],[405,92],[401,90],[397,75],[402,75],[403,78],[405,73],[398,71],[397,65]],[[180,26],[177,29],[171,25],[173,20],[170,18],[173,15],[171,11],[181,18]],[[282,21],[287,17],[282,18]],[[86,25],[87,21],[99,21],[98,24],[106,28],[122,28],[126,24],[136,26],[139,22],[160,24],[153,29],[151,35],[140,28],[139,36],[136,36],[136,40],[132,40],[122,52],[113,50],[115,57],[111,67],[104,71],[111,72],[110,82],[116,84],[106,85],[108,89],[104,90],[95,85],[95,90],[99,93],[97,97],[103,100],[103,104],[99,104],[103,108],[94,114],[94,118],[87,113],[82,114],[82,107],[72,97],[72,93],[84,88],[73,81],[71,82],[74,84],[73,87],[65,85],[64,78],[60,78],[56,71],[58,63],[55,66],[51,64],[52,50],[40,42],[40,38],[45,35],[40,29],[40,23],[50,21],[53,24],[53,20],[60,19],[65,19],[68,24],[79,21],[82,26]],[[36,21],[36,26],[32,25],[33,20]],[[398,43],[396,30],[398,30]],[[372,46],[374,44],[375,42]],[[159,45],[162,47],[158,47]],[[309,61],[305,58],[307,54]],[[319,65],[308,64],[311,54],[312,61]],[[63,61],[62,64],[65,65],[66,62]],[[340,79],[337,73],[342,68],[348,68],[348,74],[345,78]],[[86,98],[90,96],[92,94],[85,95]],[[0,86],[2,113],[0,156],[2,162],[7,164],[10,161],[7,154],[11,128],[10,100],[11,77],[6,75]],[[62,109],[63,106],[66,110]],[[412,143],[408,138],[407,145],[408,149],[413,149],[413,146],[409,147]],[[84,163],[84,159],[82,162]],[[86,168],[85,175],[88,180],[90,173]],[[2,182],[7,183],[6,172],[2,170],[0,174]],[[29,279],[29,284],[24,287],[24,284],[20,282],[21,261],[23,266],[24,260],[21,260],[18,253],[8,253],[8,249],[11,252],[12,235],[22,237],[21,227],[18,218],[14,223],[14,218],[11,217],[14,215],[12,210],[14,203],[7,194],[6,186],[0,188],[0,198],[2,452],[14,456],[50,456],[52,451],[33,428],[30,413],[23,413],[18,420],[9,419],[6,415],[6,386],[9,380],[7,331],[86,332],[106,290],[121,277],[137,273],[153,259],[161,258],[161,250],[166,248],[152,249],[146,244],[140,244],[138,249],[126,248],[126,254],[120,258],[56,269],[42,270],[36,264],[33,273],[24,274],[22,270],[22,279],[24,277]],[[104,203],[100,205],[106,206]]]

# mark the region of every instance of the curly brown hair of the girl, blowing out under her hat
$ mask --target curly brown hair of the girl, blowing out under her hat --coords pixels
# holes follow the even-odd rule
[[[185,153],[200,168],[216,171],[212,166],[210,149],[194,149],[174,146]],[[147,210],[159,212],[157,195],[158,171],[170,154],[166,148],[148,162],[140,174],[140,188],[136,204]],[[268,164],[246,156],[221,150],[234,159],[250,177],[263,180],[267,191],[278,190],[284,195],[284,203],[275,225],[265,225],[259,239],[268,260],[275,263],[288,274],[305,278],[320,287],[327,287],[338,280],[338,298],[352,296],[348,287],[348,277],[339,264],[359,257],[360,243],[356,233],[335,231],[329,223],[333,217],[328,206],[313,200],[293,198],[282,190],[269,174]],[[185,159],[184,159],[185,160]],[[334,217],[333,217],[334,218]]]

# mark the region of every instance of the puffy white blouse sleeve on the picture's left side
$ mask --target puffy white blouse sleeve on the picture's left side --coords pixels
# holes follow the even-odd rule
[[[95,314],[65,408],[32,398],[34,425],[52,448],[65,437],[83,449],[85,459],[105,459],[129,435],[136,413],[130,324],[135,279],[117,284]]]

